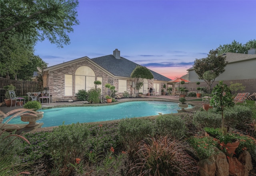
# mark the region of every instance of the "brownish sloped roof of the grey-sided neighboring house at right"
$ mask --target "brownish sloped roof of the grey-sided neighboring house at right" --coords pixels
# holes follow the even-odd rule
[[[226,56],[226,61],[228,61],[228,63],[256,59],[256,55],[242,54],[242,53],[225,53],[223,54],[223,56]],[[194,70],[194,67],[191,67],[188,70]]]

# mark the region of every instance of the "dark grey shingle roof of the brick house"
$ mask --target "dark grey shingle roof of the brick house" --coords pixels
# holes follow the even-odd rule
[[[91,59],[98,65],[102,66],[110,73],[114,74],[115,76],[124,76],[130,77],[134,68],[138,65],[124,57],[120,57],[120,59],[116,59],[114,55],[106,55],[102,57],[96,57]],[[170,78],[167,78],[161,74],[158,74],[152,70],[150,70],[154,76],[155,80],[162,80],[162,81],[170,81]]]

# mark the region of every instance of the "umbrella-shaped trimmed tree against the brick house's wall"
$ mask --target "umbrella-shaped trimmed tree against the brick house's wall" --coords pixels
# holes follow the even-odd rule
[[[143,86],[144,79],[153,79],[154,76],[148,68],[145,66],[137,65],[131,73],[131,77],[134,78],[136,84],[136,90],[140,90]],[[136,93],[136,92],[135,92]]]

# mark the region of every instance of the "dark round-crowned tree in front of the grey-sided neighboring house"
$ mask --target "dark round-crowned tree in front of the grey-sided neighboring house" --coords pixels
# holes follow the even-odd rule
[[[194,70],[198,75],[198,78],[204,80],[209,86],[209,93],[211,93],[211,85],[215,78],[225,71],[224,68],[228,64],[225,60],[226,56],[218,55],[218,49],[216,49],[210,50],[208,57],[196,59],[194,62]],[[204,75],[206,71],[211,71],[215,78],[212,77],[209,81],[209,77],[206,78],[206,75]]]

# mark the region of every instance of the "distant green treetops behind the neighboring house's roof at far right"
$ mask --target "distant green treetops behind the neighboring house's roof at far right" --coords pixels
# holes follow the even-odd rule
[[[231,44],[224,44],[223,46],[220,45],[218,47],[218,54],[222,55],[224,53],[247,53],[249,49],[255,48],[256,49],[256,40],[250,40],[246,44],[242,45],[237,41],[232,41]]]

